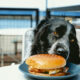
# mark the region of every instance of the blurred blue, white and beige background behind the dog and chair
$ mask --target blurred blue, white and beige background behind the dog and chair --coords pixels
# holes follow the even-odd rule
[[[80,0],[0,0],[0,67],[23,60],[25,33],[46,16],[70,21],[80,45]]]

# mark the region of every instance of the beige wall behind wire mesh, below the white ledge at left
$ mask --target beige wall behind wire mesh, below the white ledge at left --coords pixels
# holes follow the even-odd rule
[[[14,41],[22,41],[22,36],[17,35],[0,35],[0,54],[14,54]],[[18,51],[22,52],[22,43],[18,43]]]

